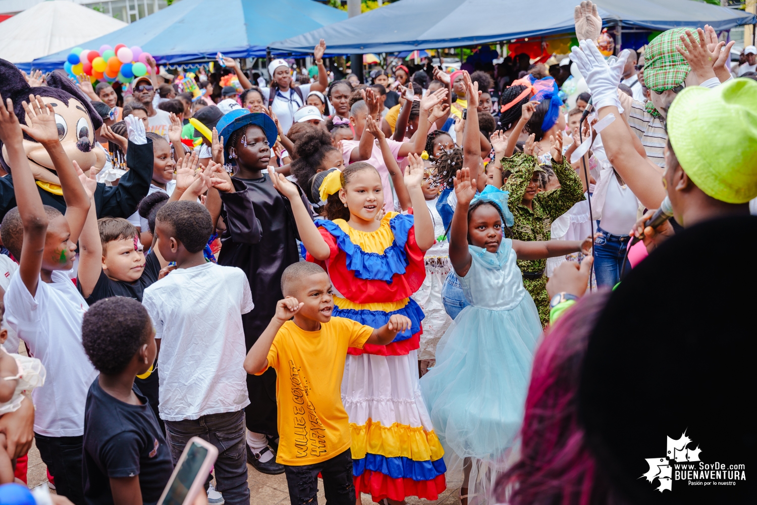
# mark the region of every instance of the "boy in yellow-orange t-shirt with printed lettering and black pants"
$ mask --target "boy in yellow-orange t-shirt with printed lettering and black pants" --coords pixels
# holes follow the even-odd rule
[[[319,473],[327,503],[354,505],[350,425],[341,403],[347,348],[386,345],[410,328],[410,319],[394,314],[373,329],[332,317],[331,280],[316,263],[289,265],[282,292],[276,316],[245,357],[247,373],[276,369],[276,463],[285,466],[292,505],[317,505]]]

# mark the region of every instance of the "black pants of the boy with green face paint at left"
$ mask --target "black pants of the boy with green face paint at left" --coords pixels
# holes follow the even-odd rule
[[[82,454],[84,436],[46,437],[34,434],[39,457],[55,478],[55,492],[67,497],[76,505],[84,503]]]

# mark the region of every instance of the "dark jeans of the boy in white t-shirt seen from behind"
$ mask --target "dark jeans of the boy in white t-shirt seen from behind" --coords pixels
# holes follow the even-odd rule
[[[200,437],[218,449],[213,466],[216,489],[229,505],[249,505],[250,488],[247,485],[247,452],[245,442],[245,410],[221,414],[208,414],[200,419],[166,421],[166,441],[171,450],[173,464],[179,461],[190,438]],[[210,474],[205,489],[210,484]]]

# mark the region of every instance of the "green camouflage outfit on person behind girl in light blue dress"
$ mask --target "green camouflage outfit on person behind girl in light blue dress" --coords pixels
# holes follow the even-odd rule
[[[537,157],[528,154],[516,153],[511,157],[502,158],[503,170],[512,172],[502,188],[509,192],[507,204],[515,218],[512,238],[524,242],[550,240],[552,221],[586,198],[581,179],[563,157],[562,163],[552,160],[552,170],[557,176],[560,187],[547,192],[538,192],[532,202],[534,210],[529,209],[522,203],[523,195],[534,176],[534,171],[539,170],[538,167]],[[518,267],[522,273],[544,272],[547,260],[518,260]],[[542,275],[538,279],[527,279],[524,276],[523,285],[531,293],[531,298],[534,298],[542,326],[546,326],[550,320],[547,277]]]

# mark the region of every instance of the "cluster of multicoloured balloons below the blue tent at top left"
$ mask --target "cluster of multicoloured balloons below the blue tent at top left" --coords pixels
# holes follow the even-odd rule
[[[86,73],[92,82],[104,80],[113,83],[117,80],[126,84],[147,73],[147,58],[150,57],[150,53],[142,51],[137,45],[129,48],[119,44],[111,48],[104,44],[100,46],[100,51],[71,49],[63,68],[70,76]]]

